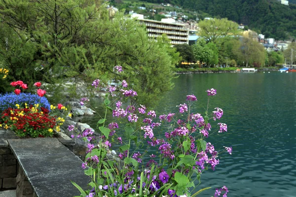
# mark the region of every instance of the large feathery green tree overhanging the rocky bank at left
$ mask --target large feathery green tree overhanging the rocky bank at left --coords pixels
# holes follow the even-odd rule
[[[108,84],[115,77],[147,105],[173,86],[170,45],[150,41],[146,28],[121,12],[110,18],[106,4],[96,0],[0,1],[0,20],[0,63],[9,69],[8,81],[54,86],[100,78]],[[123,74],[113,72],[116,65]]]

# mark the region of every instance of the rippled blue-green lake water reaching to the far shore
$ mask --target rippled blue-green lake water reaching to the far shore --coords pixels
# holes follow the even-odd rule
[[[225,185],[228,197],[296,197],[296,73],[184,74],[174,83],[156,114],[176,112],[190,94],[198,99],[194,112],[203,114],[205,91],[215,88],[209,111],[223,109],[220,122],[228,132],[206,141],[217,150],[233,148],[232,155],[222,154],[215,171],[202,174],[198,189],[212,189],[199,196],[214,196],[214,189]],[[93,127],[97,121],[87,120]]]

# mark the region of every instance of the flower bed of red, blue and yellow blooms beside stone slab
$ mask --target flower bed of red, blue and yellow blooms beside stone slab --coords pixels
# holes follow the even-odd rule
[[[27,84],[22,81],[12,82],[11,85],[20,86],[23,89],[28,88]],[[40,85],[40,82],[35,83],[37,87]],[[0,109],[3,109],[0,127],[10,128],[19,137],[51,137],[54,130],[60,131],[60,126],[65,122],[63,118],[67,110],[65,106],[58,104],[58,109],[56,109],[55,106],[50,105],[43,97],[46,91],[41,89],[37,90],[37,95],[18,93],[16,90],[14,93],[0,97]],[[40,90],[41,95],[38,94]]]

